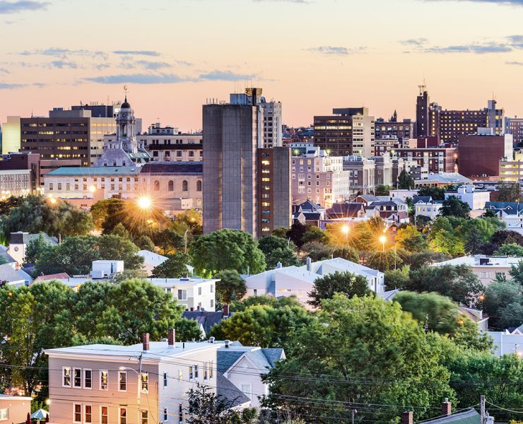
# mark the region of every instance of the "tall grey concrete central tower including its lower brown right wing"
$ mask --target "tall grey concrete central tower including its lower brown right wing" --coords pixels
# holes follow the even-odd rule
[[[290,149],[264,146],[259,88],[252,104],[203,107],[204,233],[222,228],[257,238],[290,225]]]

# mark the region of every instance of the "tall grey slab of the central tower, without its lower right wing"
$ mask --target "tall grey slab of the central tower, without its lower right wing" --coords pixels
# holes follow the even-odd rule
[[[204,233],[222,228],[258,237],[256,105],[204,105]]]

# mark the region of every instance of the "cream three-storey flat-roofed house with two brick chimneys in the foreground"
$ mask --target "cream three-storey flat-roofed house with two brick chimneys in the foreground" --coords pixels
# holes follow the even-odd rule
[[[53,424],[178,424],[196,383],[216,392],[219,345],[166,341],[46,350]]]

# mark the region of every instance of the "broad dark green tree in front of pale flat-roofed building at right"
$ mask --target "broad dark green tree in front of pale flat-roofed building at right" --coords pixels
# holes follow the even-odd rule
[[[418,293],[435,291],[462,305],[475,305],[483,285],[470,266],[422,266],[411,269],[409,283],[403,288]]]

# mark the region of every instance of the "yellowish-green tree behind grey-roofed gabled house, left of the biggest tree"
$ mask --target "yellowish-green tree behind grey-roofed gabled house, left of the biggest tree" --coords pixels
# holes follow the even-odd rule
[[[218,340],[238,340],[245,346],[287,348],[294,343],[294,329],[310,325],[312,317],[294,302],[271,302],[271,305],[251,305],[213,326],[212,336]]]

